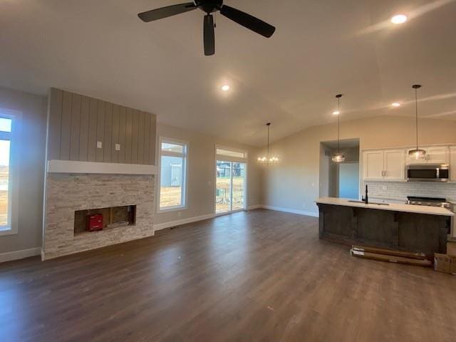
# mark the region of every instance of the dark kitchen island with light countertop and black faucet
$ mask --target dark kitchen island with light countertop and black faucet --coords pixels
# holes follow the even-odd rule
[[[446,253],[450,210],[411,204],[366,204],[321,197],[319,237],[345,244],[398,249],[425,254]]]

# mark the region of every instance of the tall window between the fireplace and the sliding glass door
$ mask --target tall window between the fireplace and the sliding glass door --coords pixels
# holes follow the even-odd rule
[[[187,144],[161,138],[159,211],[185,207],[186,174]]]

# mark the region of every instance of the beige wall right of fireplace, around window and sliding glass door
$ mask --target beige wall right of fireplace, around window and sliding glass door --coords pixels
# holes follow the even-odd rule
[[[249,195],[247,207],[259,204],[260,182],[259,168],[257,166],[259,149],[216,138],[211,135],[204,135],[190,130],[175,128],[162,123],[158,123],[157,130],[158,137],[161,136],[187,141],[189,143],[189,151],[187,160],[187,209],[182,209],[180,211],[181,216],[179,216],[179,212],[164,212],[157,214],[155,215],[155,224],[214,213],[214,147],[216,144],[239,148],[249,152],[249,162],[247,165]]]

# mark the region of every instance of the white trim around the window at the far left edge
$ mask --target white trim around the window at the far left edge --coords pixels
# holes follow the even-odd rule
[[[9,224],[0,227],[0,237],[5,235],[18,234],[19,226],[19,157],[20,157],[20,140],[21,118],[22,114],[16,110],[0,108],[2,118],[11,119],[11,132],[0,132],[0,139],[9,140]]]

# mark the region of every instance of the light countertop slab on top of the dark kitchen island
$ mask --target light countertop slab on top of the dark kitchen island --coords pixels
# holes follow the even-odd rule
[[[356,199],[351,199],[356,200]],[[449,209],[442,207],[430,207],[427,205],[413,205],[413,204],[400,204],[400,203],[389,203],[385,204],[375,204],[369,203],[358,203],[358,202],[349,202],[349,199],[346,198],[336,198],[336,197],[320,197],[316,200],[317,204],[333,204],[333,205],[342,205],[345,207],[358,207],[366,209],[378,209],[378,210],[389,210],[391,212],[411,212],[415,214],[430,214],[430,215],[440,215],[440,216],[455,216]]]

